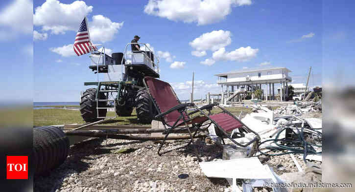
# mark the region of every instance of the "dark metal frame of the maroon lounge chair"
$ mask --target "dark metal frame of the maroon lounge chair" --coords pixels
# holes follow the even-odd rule
[[[150,97],[150,99],[151,99],[151,101],[152,101],[154,107],[156,108],[156,110],[157,110],[158,113],[159,113],[158,115],[156,115],[156,116],[154,117],[154,119],[155,119],[155,120],[162,121],[162,123],[163,123],[163,125],[164,125],[164,128],[166,129],[166,131],[163,132],[163,133],[165,133],[166,135],[165,135],[164,140],[163,140],[163,142],[161,143],[161,145],[160,145],[160,147],[159,147],[159,149],[158,149],[158,155],[159,155],[159,156],[161,156],[163,153],[165,153],[165,152],[161,153],[160,150],[161,150],[162,147],[164,146],[164,144],[165,144],[165,142],[166,142],[167,136],[168,136],[170,133],[173,133],[174,130],[178,131],[178,130],[182,130],[182,129],[185,129],[185,128],[186,128],[186,129],[189,131],[189,135],[190,135],[190,138],[191,138],[191,139],[190,139],[190,141],[189,141],[189,144],[185,146],[185,147],[187,147],[187,146],[189,146],[189,145],[192,143],[193,137],[197,134],[197,132],[203,131],[203,130],[207,129],[208,127],[210,127],[211,124],[214,124],[215,128],[218,128],[218,131],[220,131],[220,132],[223,134],[223,135],[218,135],[219,137],[221,137],[221,140],[222,140],[223,144],[225,144],[225,142],[224,142],[224,140],[223,140],[223,136],[226,136],[226,137],[227,137],[228,139],[230,139],[233,143],[235,143],[237,146],[240,146],[240,147],[247,147],[247,146],[249,146],[249,145],[252,144],[252,143],[256,143],[256,145],[259,145],[259,143],[260,143],[260,136],[259,136],[259,134],[258,134],[257,132],[255,132],[255,131],[253,131],[252,129],[248,128],[248,127],[247,127],[243,122],[241,122],[235,115],[233,115],[231,112],[229,112],[229,111],[228,111],[227,109],[225,109],[224,107],[219,106],[218,103],[206,105],[206,106],[203,106],[203,107],[200,107],[200,108],[197,107],[194,103],[185,103],[185,104],[182,104],[182,103],[180,102],[179,98],[177,97],[177,95],[176,95],[174,89],[172,89],[172,87],[171,87],[171,90],[172,90],[172,92],[173,92],[175,98],[177,99],[177,102],[179,103],[179,105],[174,106],[174,107],[171,107],[170,109],[168,109],[168,110],[165,111],[165,112],[161,112],[161,110],[160,110],[158,104],[156,103],[155,99],[154,99],[153,96],[151,95],[150,90],[149,90],[149,87],[148,87],[148,85],[145,83],[145,80],[143,80],[143,84],[144,84],[144,86],[145,86],[145,88],[146,88],[146,90],[147,90],[147,92],[148,92],[148,94],[149,94],[149,97]],[[170,86],[171,86],[171,85],[170,85]],[[193,110],[192,112],[187,113],[187,111],[186,111],[187,107],[193,107],[193,108],[195,108],[195,110]],[[220,127],[220,125],[218,125],[218,123],[216,123],[215,121],[213,121],[213,120],[209,117],[209,115],[211,115],[211,110],[213,109],[213,107],[219,107],[219,108],[222,110],[222,113],[227,113],[228,115],[230,115],[230,116],[232,116],[234,119],[236,119],[236,120],[242,125],[242,128],[238,128],[239,130],[244,130],[245,132],[248,132],[248,133],[249,133],[249,132],[253,132],[253,133],[256,135],[256,137],[255,137],[253,140],[251,140],[250,142],[248,142],[247,144],[245,144],[245,145],[242,145],[242,144],[238,143],[237,141],[235,141],[231,136],[228,135],[228,133],[227,133],[222,127]],[[209,112],[208,114],[206,114],[206,113],[203,111],[203,110],[205,110],[205,109]],[[173,112],[173,111],[175,111],[175,110],[177,110],[177,111],[180,113],[180,117],[175,121],[175,123],[174,123],[173,125],[169,125],[169,124],[164,120],[164,116],[167,115],[167,114],[169,114],[169,113],[171,113],[171,112]],[[184,112],[185,112],[186,116],[188,117],[188,119],[185,118]],[[204,117],[206,117],[206,118],[208,118],[208,119],[207,119],[206,121],[203,121],[203,122],[200,122],[200,123],[193,123],[193,122],[192,122],[192,123],[190,123],[192,126],[189,127],[189,126],[188,126],[188,123],[191,122],[191,121],[195,118],[195,117],[192,117],[192,118],[191,118],[190,115],[192,115],[192,114],[194,114],[194,113],[197,113],[197,112],[200,112]],[[178,124],[178,122],[179,122],[180,120],[183,120],[183,123]],[[210,122],[209,122],[209,121],[210,121]],[[209,123],[206,123],[206,124],[203,125],[203,123],[205,123],[205,122],[209,122]],[[185,124],[185,127],[184,127],[184,128],[181,128],[181,127],[180,127],[182,124]],[[206,125],[208,125],[207,128],[201,128],[201,127],[206,126]],[[168,127],[168,128],[166,128],[166,127]],[[180,129],[177,129],[177,128],[179,128],[179,127],[180,127]],[[192,133],[191,133],[191,128],[195,128],[195,132],[193,133],[193,135],[192,135]],[[240,132],[240,133],[241,133],[241,136],[240,136],[240,137],[244,137],[244,134],[243,134],[242,132]]]

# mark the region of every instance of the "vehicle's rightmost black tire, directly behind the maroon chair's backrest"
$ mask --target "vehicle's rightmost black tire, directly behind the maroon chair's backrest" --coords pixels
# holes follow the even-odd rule
[[[141,88],[137,92],[136,112],[138,122],[141,124],[150,124],[158,114],[145,88]]]

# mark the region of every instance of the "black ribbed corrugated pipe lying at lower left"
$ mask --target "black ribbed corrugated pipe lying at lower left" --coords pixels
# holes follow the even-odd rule
[[[33,165],[35,175],[48,173],[62,165],[69,152],[69,139],[53,126],[33,128]]]

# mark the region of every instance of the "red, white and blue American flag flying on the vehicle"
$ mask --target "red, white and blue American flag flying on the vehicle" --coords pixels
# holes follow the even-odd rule
[[[86,17],[81,22],[79,31],[76,33],[75,42],[73,45],[76,55],[84,55],[90,53],[92,49],[97,50],[95,46],[91,46],[93,43],[90,41],[89,27]]]

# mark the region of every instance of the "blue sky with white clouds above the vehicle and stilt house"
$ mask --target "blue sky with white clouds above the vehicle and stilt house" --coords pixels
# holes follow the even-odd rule
[[[22,1],[27,0],[13,3]],[[8,4],[1,2],[5,8]],[[354,6],[340,2],[35,0],[33,6],[34,102],[79,101],[80,91],[89,88],[83,82],[95,81],[89,55],[77,57],[69,51],[84,15],[93,43],[112,52],[122,52],[134,35],[154,47],[161,55],[161,79],[173,85],[180,99],[189,97],[192,72],[197,99],[209,90],[219,92],[213,76],[217,73],[260,64],[285,66],[294,83],[304,83],[312,66],[310,85],[315,86],[322,84],[322,77],[326,81],[334,74],[349,74],[341,67],[350,66],[354,57],[349,54]]]

